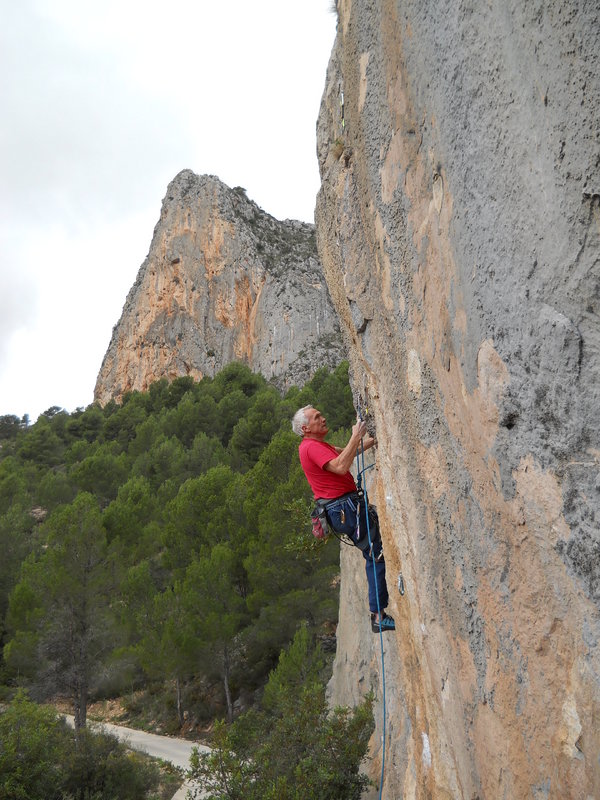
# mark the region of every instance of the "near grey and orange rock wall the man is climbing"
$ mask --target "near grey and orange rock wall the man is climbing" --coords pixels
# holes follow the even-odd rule
[[[597,798],[598,4],[337,7],[317,239],[379,439],[383,797]],[[351,555],[342,703],[381,699]]]

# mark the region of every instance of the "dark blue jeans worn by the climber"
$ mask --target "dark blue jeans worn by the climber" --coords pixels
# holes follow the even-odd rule
[[[369,609],[374,614],[383,611],[388,604],[387,583],[385,580],[385,561],[383,560],[379,518],[373,506],[369,506],[369,528],[367,532],[367,515],[364,499],[358,495],[341,497],[327,505],[327,519],[336,533],[344,533],[355,547],[362,550],[365,559],[365,572],[369,586]],[[358,509],[358,515],[357,515]],[[358,525],[357,525],[358,520]],[[369,545],[369,536],[371,545]],[[377,597],[379,596],[379,608]]]

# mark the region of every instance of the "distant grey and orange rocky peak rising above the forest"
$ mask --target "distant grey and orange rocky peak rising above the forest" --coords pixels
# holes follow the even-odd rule
[[[185,170],[168,187],[94,396],[105,404],[232,360],[285,386],[342,357],[314,226],[273,219],[243,189]]]

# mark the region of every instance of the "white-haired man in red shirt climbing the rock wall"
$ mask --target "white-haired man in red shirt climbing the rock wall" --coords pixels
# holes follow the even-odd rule
[[[364,450],[368,450],[375,445],[375,439],[365,437],[367,426],[358,421],[352,428],[352,436],[346,447],[334,447],[325,441],[329,433],[325,417],[312,406],[304,406],[296,411],[292,429],[302,437],[300,463],[317,504],[324,505],[326,509],[329,525],[337,533],[348,535],[353,544],[362,550],[369,587],[371,629],[374,633],[379,633],[380,627],[382,631],[395,630],[393,618],[384,612],[388,604],[388,591],[377,513],[373,507],[369,508],[372,543],[369,545],[366,503],[349,471],[361,440]]]

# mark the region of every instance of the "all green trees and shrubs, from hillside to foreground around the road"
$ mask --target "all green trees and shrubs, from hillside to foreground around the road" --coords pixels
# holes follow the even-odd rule
[[[128,725],[208,735],[207,797],[360,797],[371,701],[326,702],[339,544],[311,536],[291,430],[309,403],[344,444],[346,362],[283,397],[232,363],[0,417],[0,800],[171,797],[168,771],[86,726],[107,698]],[[43,705],[65,702],[75,734]]]

